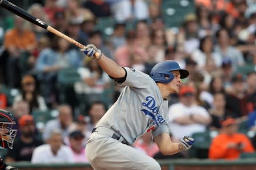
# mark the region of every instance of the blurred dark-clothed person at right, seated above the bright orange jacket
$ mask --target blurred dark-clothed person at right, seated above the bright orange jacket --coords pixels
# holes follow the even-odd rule
[[[232,77],[232,91],[226,95],[226,110],[234,113],[236,118],[245,119],[249,114],[246,105],[245,78],[237,73]]]

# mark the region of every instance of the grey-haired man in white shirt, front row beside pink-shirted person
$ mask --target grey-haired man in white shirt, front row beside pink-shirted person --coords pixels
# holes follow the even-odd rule
[[[36,147],[31,163],[73,163],[71,148],[63,144],[62,132],[55,128],[49,135],[49,143]]]

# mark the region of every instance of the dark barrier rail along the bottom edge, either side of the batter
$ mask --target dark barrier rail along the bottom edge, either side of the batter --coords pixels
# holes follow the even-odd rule
[[[162,170],[256,170],[255,159],[236,161],[208,159],[159,160]],[[89,164],[31,164],[27,162],[13,163],[20,170],[93,170]],[[143,169],[142,169],[143,170]]]

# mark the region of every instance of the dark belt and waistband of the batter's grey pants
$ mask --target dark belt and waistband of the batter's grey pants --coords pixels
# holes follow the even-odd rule
[[[117,139],[119,142],[128,145],[128,142],[125,140],[125,138],[123,138],[122,135],[119,135],[117,132],[115,132],[107,127],[94,127],[92,130],[92,133],[93,132],[98,132],[101,135],[108,135],[111,138]]]

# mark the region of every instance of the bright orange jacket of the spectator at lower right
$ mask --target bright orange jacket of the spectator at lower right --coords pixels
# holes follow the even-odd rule
[[[229,143],[244,143],[245,147],[243,152],[254,152],[254,147],[244,134],[234,134],[232,136],[227,134],[220,134],[213,139],[212,144],[209,148],[209,158],[210,159],[238,159],[241,152],[236,148],[228,148]]]

